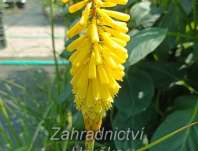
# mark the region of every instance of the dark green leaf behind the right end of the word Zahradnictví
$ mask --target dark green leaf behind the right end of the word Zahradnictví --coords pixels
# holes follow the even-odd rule
[[[136,114],[135,116],[126,117],[126,114],[121,112],[116,112],[116,114],[112,118],[112,127],[113,130],[119,132],[120,130],[127,131],[128,129],[133,130],[134,134],[136,134],[137,138],[129,137],[128,140],[114,140],[114,144],[117,150],[135,150],[142,146],[143,137],[141,137],[141,133],[146,136],[150,123],[153,123],[157,120],[156,113],[154,111],[154,107],[150,106],[146,111],[141,112],[140,114]],[[139,134],[138,134],[139,132]]]

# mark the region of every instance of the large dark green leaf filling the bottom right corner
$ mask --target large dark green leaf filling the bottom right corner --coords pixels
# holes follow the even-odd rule
[[[186,98],[189,99],[189,98]],[[191,98],[192,99],[192,98]],[[195,97],[194,101],[198,101]],[[188,100],[186,100],[188,101]],[[191,109],[178,110],[169,115],[166,120],[160,125],[153,136],[153,141],[168,134],[178,128],[198,121],[198,102]],[[197,151],[198,149],[198,126],[182,131],[167,141],[154,146],[150,151]]]

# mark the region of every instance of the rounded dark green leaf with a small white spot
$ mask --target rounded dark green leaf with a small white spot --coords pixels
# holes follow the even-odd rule
[[[145,111],[154,95],[151,77],[140,70],[130,69],[116,98],[116,106],[126,116]]]

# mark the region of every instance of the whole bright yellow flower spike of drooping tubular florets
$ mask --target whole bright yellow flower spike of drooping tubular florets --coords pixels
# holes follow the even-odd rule
[[[97,131],[102,118],[112,106],[124,76],[128,54],[124,48],[130,37],[127,21],[130,16],[107,10],[124,5],[127,0],[83,0],[73,4],[69,11],[82,8],[82,17],[68,32],[68,37],[79,35],[67,46],[72,52],[72,87],[75,103],[83,114],[86,130]]]

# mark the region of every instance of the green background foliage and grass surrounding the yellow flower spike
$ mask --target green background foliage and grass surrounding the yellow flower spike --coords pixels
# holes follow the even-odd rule
[[[67,6],[61,5],[60,9],[65,12],[67,26],[80,17],[80,13],[68,14]],[[129,59],[122,89],[103,126],[106,130],[144,127],[145,136],[136,141],[97,142],[96,148],[111,146],[112,150],[136,150],[198,121],[198,2],[129,0],[128,5],[116,9],[131,14],[131,41],[127,46]],[[66,41],[65,45],[69,43]],[[65,51],[62,54],[69,55]],[[61,76],[56,76],[51,83],[47,77],[43,77],[47,82],[35,82],[38,83],[35,91],[29,91],[24,83],[3,82],[0,150],[65,151],[82,143],[49,140],[54,126],[83,130],[81,114],[73,104],[69,65],[60,68]],[[32,92],[38,93],[38,90],[41,96],[35,98]],[[12,95],[13,91],[18,94]],[[150,151],[197,151],[197,137],[198,126],[194,126]]]

